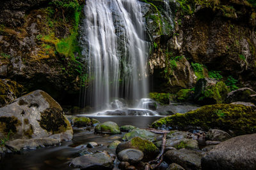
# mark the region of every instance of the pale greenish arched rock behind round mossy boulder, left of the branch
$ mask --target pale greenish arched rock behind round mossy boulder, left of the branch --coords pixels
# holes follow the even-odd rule
[[[143,139],[148,139],[150,141],[154,141],[156,139],[156,134],[147,131],[145,129],[133,129],[131,132],[124,135],[123,140],[129,141],[130,139],[134,137],[140,137]]]

